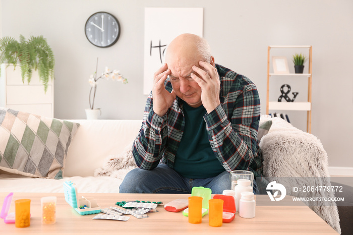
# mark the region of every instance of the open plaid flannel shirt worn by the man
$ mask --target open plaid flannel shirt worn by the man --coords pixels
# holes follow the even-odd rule
[[[225,170],[251,170],[254,179],[262,177],[263,158],[257,141],[260,121],[257,88],[247,77],[217,64],[215,67],[221,83],[221,104],[204,116],[212,150]],[[164,85],[171,92],[168,79]],[[133,155],[141,169],[153,169],[160,160],[173,168],[185,127],[179,99],[175,98],[164,116],[158,116],[152,108],[152,92],[149,94],[142,127],[133,145]]]

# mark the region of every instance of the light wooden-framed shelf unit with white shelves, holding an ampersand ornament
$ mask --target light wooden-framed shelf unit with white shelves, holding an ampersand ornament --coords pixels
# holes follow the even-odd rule
[[[309,73],[306,74],[274,74],[270,73],[270,50],[272,48],[308,48],[309,49]],[[311,133],[311,88],[312,88],[312,54],[313,47],[312,46],[268,46],[267,51],[267,95],[266,95],[266,114],[269,113],[269,110],[304,110],[307,111],[307,132]],[[288,76],[288,77],[307,77],[308,78],[308,102],[277,102],[270,101],[270,77],[275,76]]]

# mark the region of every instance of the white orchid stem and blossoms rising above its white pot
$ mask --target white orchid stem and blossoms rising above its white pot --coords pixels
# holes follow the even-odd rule
[[[96,97],[97,81],[99,79],[106,79],[106,80],[111,79],[111,80],[122,82],[123,84],[128,83],[128,79],[123,77],[123,75],[119,72],[119,70],[110,71],[108,67],[105,67],[104,73],[102,73],[102,75],[97,77],[97,68],[98,68],[98,58],[97,58],[96,72],[94,72],[88,79],[88,83],[91,85],[91,90],[89,91],[89,107],[91,109],[94,109],[94,99]],[[93,94],[92,94],[92,90],[93,90]]]

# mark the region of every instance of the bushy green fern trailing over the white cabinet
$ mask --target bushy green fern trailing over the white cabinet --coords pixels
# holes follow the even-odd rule
[[[33,70],[38,70],[39,80],[46,92],[49,79],[54,78],[54,54],[43,36],[31,36],[28,40],[20,35],[20,41],[13,37],[0,39],[0,64],[20,64],[22,82],[30,83]]]

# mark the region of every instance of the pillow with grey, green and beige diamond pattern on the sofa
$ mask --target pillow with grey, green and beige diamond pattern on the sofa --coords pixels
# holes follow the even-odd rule
[[[65,158],[79,124],[0,107],[0,169],[63,179]]]

